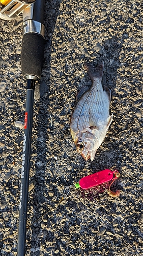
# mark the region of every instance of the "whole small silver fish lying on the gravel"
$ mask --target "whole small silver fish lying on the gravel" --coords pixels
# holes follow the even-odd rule
[[[92,87],[78,101],[70,128],[77,151],[85,160],[91,158],[93,161],[112,121],[113,114],[109,115],[111,93],[107,87],[102,87],[103,61],[96,68],[87,64],[84,67],[92,80]]]

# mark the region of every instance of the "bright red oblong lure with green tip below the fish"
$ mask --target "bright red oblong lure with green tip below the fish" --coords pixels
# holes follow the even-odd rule
[[[110,190],[110,186],[112,185],[112,183],[119,177],[120,177],[120,173],[118,172],[118,170],[114,170],[112,172],[112,170],[105,169],[105,170],[101,170],[98,173],[91,174],[89,176],[81,178],[79,183],[75,184],[75,187],[76,188],[81,187],[82,189],[88,189],[90,187],[98,186],[102,183],[112,180],[111,184],[109,185],[107,193],[111,197],[119,197],[120,190],[117,190],[116,192],[113,192]]]

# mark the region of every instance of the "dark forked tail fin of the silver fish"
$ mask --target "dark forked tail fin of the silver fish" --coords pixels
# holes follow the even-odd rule
[[[99,63],[96,68],[90,67],[90,64],[84,63],[84,68],[87,70],[91,80],[99,78],[102,80],[104,61]]]

